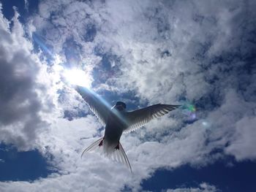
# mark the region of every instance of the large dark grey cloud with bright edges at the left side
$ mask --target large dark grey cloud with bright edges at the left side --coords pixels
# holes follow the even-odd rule
[[[11,26],[0,12],[0,141],[29,150],[48,127],[45,117],[54,104],[50,92],[43,94],[51,78],[39,79],[47,76],[46,68],[33,53],[18,17],[15,12]]]

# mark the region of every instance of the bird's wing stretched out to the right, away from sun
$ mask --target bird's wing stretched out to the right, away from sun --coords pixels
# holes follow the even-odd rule
[[[127,112],[127,128],[124,129],[124,133],[134,131],[135,129],[144,126],[150,120],[161,117],[180,106],[181,105],[178,104],[154,104],[140,110]]]

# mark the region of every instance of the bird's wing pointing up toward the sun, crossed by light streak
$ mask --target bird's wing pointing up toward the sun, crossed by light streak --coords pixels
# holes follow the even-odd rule
[[[76,86],[75,90],[83,97],[91,111],[94,112],[94,115],[99,119],[99,122],[102,123],[102,126],[105,126],[108,120],[108,115],[111,112],[110,106],[88,88]]]

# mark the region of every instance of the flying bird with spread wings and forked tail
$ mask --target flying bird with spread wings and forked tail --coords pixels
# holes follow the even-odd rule
[[[104,136],[83,150],[81,158],[84,153],[102,147],[105,155],[114,155],[115,159],[126,165],[130,172],[132,172],[132,167],[120,143],[121,135],[135,131],[150,120],[159,118],[181,106],[179,104],[154,104],[139,110],[127,111],[127,105],[122,101],[116,101],[116,104],[110,107],[105,100],[89,88],[76,85],[75,90],[86,101],[102,126],[105,126]]]

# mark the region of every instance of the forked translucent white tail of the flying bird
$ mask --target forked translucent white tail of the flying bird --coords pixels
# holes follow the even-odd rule
[[[104,137],[98,139],[96,142],[92,143],[89,147],[83,150],[83,153],[81,154],[81,158],[83,157],[84,153],[89,152],[91,150],[95,150],[97,149],[97,147],[101,147],[103,145],[103,140],[104,140]],[[129,164],[127,154],[125,153],[124,148],[123,146],[121,146],[120,142],[118,143],[118,146],[116,148],[113,148],[113,150],[111,151],[106,150],[105,155],[107,155],[110,158],[113,158],[114,160],[118,161],[121,164],[124,164],[132,172],[132,167]]]

